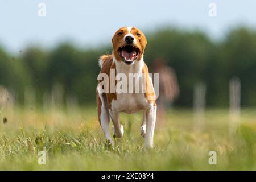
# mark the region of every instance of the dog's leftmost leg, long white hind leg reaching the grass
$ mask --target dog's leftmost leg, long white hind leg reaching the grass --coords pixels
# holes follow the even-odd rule
[[[107,99],[104,93],[99,92],[100,87],[97,88],[97,107],[98,107],[98,120],[100,121],[102,130],[105,137],[114,147],[114,142],[111,138],[109,131],[109,110],[107,108]]]

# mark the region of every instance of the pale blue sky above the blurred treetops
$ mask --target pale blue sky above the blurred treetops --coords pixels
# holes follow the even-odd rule
[[[46,3],[46,17],[38,16],[38,3]],[[217,16],[208,15],[216,3]],[[256,1],[104,1],[1,0],[0,44],[18,52],[30,44],[51,48],[70,40],[85,48],[110,44],[115,30],[136,26],[144,32],[163,26],[200,29],[221,38],[237,24],[255,27]]]

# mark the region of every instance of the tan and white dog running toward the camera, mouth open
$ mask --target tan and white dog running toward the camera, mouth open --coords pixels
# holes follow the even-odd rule
[[[115,137],[122,137],[124,130],[119,121],[119,113],[137,113],[143,110],[143,121],[141,135],[145,138],[144,146],[153,147],[153,137],[156,122],[156,97],[147,65],[143,61],[143,53],[147,44],[146,37],[138,28],[122,27],[115,32],[112,38],[113,54],[100,57],[101,74],[115,77],[115,81],[108,80],[108,86],[102,86],[98,77],[97,107],[98,119],[105,137],[114,146],[109,131],[109,120],[113,122],[113,133]],[[114,72],[113,72],[114,71]],[[114,73],[114,74],[113,74]],[[130,77],[130,74],[134,75]],[[99,75],[99,76],[100,76]],[[121,76],[127,77],[125,86],[129,92],[117,92],[116,88]],[[143,79],[140,79],[140,78]],[[128,79],[130,78],[130,79]],[[105,80],[105,78],[104,78]],[[106,81],[106,80],[105,80]],[[132,84],[130,84],[132,81]],[[141,85],[145,92],[135,92],[136,85]],[[124,85],[123,85],[124,86]],[[106,89],[107,88],[107,89]],[[141,91],[143,89],[140,89]],[[111,92],[106,92],[111,90]],[[133,91],[133,92],[130,92]]]

